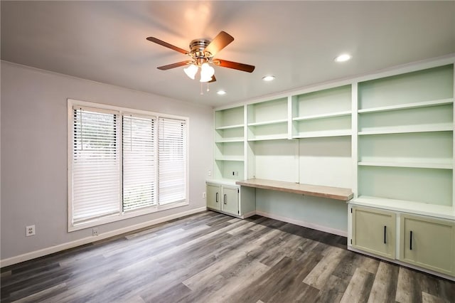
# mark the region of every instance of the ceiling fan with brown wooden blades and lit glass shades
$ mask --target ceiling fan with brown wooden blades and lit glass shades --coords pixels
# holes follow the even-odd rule
[[[189,78],[194,80],[196,73],[198,73],[198,70],[200,68],[200,82],[216,81],[215,70],[212,66],[210,66],[210,64],[218,65],[223,68],[242,70],[247,73],[252,73],[252,71],[255,70],[255,66],[253,65],[213,58],[220,50],[234,41],[234,38],[225,31],[220,31],[220,33],[218,33],[218,35],[212,41],[206,39],[195,39],[191,41],[189,51],[178,48],[177,46],[173,46],[172,44],[161,41],[155,37],[148,37],[147,40],[157,43],[161,46],[165,46],[166,48],[171,48],[171,50],[176,50],[178,53],[183,53],[184,55],[191,57],[191,60],[159,66],[159,70],[169,70],[171,68],[178,68],[179,66],[188,65],[187,68],[184,68],[184,71]]]

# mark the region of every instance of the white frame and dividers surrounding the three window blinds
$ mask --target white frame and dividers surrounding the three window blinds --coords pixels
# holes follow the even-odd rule
[[[113,216],[105,217],[105,218],[100,218],[100,219],[94,219],[94,220],[88,220],[85,223],[80,223],[77,225],[73,225],[73,107],[85,107],[85,108],[92,108],[93,110],[96,111],[105,111],[105,112],[118,112],[119,115],[119,131],[117,132],[118,141],[119,141],[119,171],[120,171],[120,193],[119,193],[119,213],[115,214]],[[123,139],[122,139],[122,127],[123,127],[123,115],[142,115],[144,117],[155,117],[156,121],[158,121],[159,117],[163,118],[170,118],[170,119],[180,119],[185,121],[186,123],[186,137],[185,137],[185,142],[184,144],[186,145],[186,163],[185,163],[185,198],[183,201],[179,201],[176,203],[168,203],[164,205],[159,205],[159,201],[157,200],[156,205],[153,206],[148,206],[144,208],[139,208],[137,210],[131,210],[131,211],[123,211],[122,210],[122,203],[123,203],[123,196],[122,196],[122,191],[123,191],[123,175],[122,175],[122,161],[123,161],[123,153],[122,153],[122,148],[123,148]],[[75,230],[82,230],[85,228],[91,228],[94,226],[99,226],[107,223],[112,223],[112,222],[117,222],[119,220],[125,220],[129,218],[135,218],[138,216],[143,216],[149,213],[156,213],[159,211],[165,211],[167,209],[171,208],[178,208],[181,206],[188,206],[189,205],[189,129],[190,129],[190,121],[188,117],[182,117],[178,115],[168,115],[164,114],[161,112],[151,112],[151,111],[146,111],[146,110],[136,110],[132,108],[127,108],[127,107],[118,107],[114,105],[106,105],[102,103],[95,103],[95,102],[87,102],[87,101],[82,101],[82,100],[75,100],[75,99],[70,99],[68,98],[68,232],[72,232]],[[156,132],[156,136],[158,137],[159,129]],[[156,144],[156,153],[158,153],[158,142]],[[157,182],[159,182],[159,163],[157,161],[156,163],[156,178]],[[159,191],[158,191],[159,193]]]

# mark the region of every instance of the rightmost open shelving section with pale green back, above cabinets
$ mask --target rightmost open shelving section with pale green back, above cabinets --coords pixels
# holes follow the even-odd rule
[[[452,214],[453,132],[453,65],[359,83],[355,201]]]

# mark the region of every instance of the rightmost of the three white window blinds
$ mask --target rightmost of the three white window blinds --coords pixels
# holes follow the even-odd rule
[[[186,121],[159,118],[159,204],[186,198]]]

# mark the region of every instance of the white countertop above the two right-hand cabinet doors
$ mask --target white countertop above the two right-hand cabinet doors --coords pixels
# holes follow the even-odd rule
[[[455,220],[455,211],[451,206],[442,206],[414,201],[393,200],[373,196],[359,196],[358,198],[353,198],[351,201],[349,201],[349,203],[359,206],[370,206],[387,209],[390,211],[400,211],[404,213],[413,213],[417,215]]]

